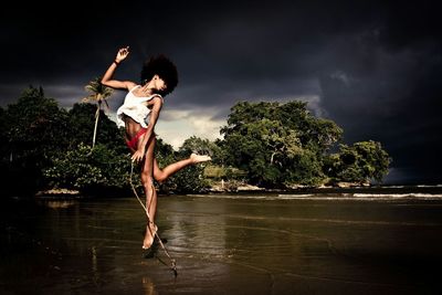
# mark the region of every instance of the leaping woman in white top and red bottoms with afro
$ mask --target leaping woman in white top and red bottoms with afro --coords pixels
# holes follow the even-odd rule
[[[116,89],[126,89],[124,104],[117,110],[117,125],[126,129],[126,143],[131,160],[141,162],[141,183],[146,193],[148,224],[143,241],[143,249],[149,249],[155,240],[158,228],[155,225],[157,211],[157,192],[154,179],[162,182],[180,169],[202,161],[210,160],[208,156],[192,154],[188,159],[171,164],[159,169],[155,159],[156,144],[155,125],[158,120],[162,97],[171,93],[178,84],[176,65],[166,56],[150,57],[143,66],[141,84],[130,81],[114,80],[113,75],[118,65],[128,56],[129,48],[118,50],[115,61],[107,69],[102,84]]]

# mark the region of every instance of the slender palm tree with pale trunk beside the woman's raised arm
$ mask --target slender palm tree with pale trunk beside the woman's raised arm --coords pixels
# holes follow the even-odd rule
[[[99,110],[102,110],[102,103],[104,102],[106,105],[106,109],[109,109],[109,105],[107,104],[106,99],[109,98],[110,95],[114,93],[113,88],[104,86],[101,83],[101,81],[102,81],[101,77],[96,77],[95,80],[91,81],[90,84],[87,84],[84,87],[86,92],[91,94],[82,99],[83,103],[95,102],[97,105],[97,109],[95,112],[95,126],[94,126],[94,136],[92,138],[92,148],[95,147],[95,138],[98,127]]]

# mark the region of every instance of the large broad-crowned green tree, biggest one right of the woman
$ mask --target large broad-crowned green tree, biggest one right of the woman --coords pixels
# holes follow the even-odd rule
[[[303,102],[240,102],[221,129],[227,161],[248,171],[252,183],[271,187],[320,181],[322,158],[341,133]]]

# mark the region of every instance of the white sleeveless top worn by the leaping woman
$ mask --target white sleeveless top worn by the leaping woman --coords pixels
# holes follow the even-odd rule
[[[141,87],[137,85],[133,87],[125,97],[124,104],[117,109],[117,126],[125,127],[125,122],[123,119],[124,114],[131,117],[134,120],[138,122],[143,128],[147,128],[147,124],[149,123],[149,114],[150,109],[144,104],[152,99],[154,97],[159,97],[162,99],[161,95],[152,94],[150,96],[138,97],[134,95],[134,89]]]

